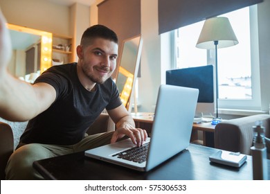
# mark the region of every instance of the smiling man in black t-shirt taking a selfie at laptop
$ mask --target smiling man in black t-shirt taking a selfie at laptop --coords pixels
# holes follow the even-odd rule
[[[51,67],[28,85],[6,70],[10,37],[1,11],[0,17],[0,116],[30,120],[8,161],[7,179],[42,179],[33,161],[114,143],[125,135],[142,145],[147,133],[135,127],[111,79],[118,55],[114,31],[101,25],[87,28],[77,47],[78,63]],[[103,109],[116,123],[115,132],[85,136]]]

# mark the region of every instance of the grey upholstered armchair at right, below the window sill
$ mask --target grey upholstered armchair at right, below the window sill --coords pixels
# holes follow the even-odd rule
[[[219,123],[215,127],[215,148],[251,155],[253,126],[262,121],[265,136],[270,137],[270,115],[256,114]],[[268,148],[269,149],[269,148]],[[269,152],[270,150],[268,150]]]

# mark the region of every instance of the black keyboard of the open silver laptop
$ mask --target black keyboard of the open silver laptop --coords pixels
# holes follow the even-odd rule
[[[113,157],[118,157],[121,159],[126,159],[128,161],[143,163],[144,161],[146,161],[148,148],[149,148],[149,142],[143,144],[141,147],[134,147],[134,148],[130,148],[129,150],[119,152],[118,154],[113,155]]]

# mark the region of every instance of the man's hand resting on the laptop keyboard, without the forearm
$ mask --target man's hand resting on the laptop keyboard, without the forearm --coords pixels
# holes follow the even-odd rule
[[[132,125],[125,125],[125,127],[116,129],[111,137],[111,143],[115,143],[117,139],[120,139],[125,135],[129,136],[130,139],[132,139],[132,142],[138,147],[143,145],[143,142],[147,139],[147,132],[145,130],[135,128]]]

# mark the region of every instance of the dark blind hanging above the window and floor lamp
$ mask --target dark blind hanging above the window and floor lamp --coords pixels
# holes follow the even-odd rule
[[[159,0],[159,34],[263,0]]]

